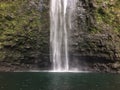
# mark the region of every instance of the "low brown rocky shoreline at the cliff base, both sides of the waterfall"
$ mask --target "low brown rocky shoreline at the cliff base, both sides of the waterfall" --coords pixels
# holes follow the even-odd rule
[[[85,59],[84,59],[85,58]],[[119,64],[118,63],[105,63],[105,61],[96,61],[86,59],[83,57],[81,60],[74,60],[71,62],[70,70],[72,71],[89,71],[89,72],[98,72],[98,73],[120,73]],[[73,65],[76,64],[76,65]],[[75,68],[75,69],[74,69]],[[35,71],[44,71],[44,70],[52,70],[52,66],[47,64],[46,66],[39,66],[38,64],[11,64],[11,63],[0,63],[0,72],[35,72]]]

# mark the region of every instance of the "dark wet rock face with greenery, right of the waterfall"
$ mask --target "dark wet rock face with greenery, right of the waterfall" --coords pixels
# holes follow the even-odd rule
[[[88,66],[96,68],[97,71],[119,71],[120,5],[118,3],[119,0],[78,2],[75,22],[77,25],[74,25],[72,31],[74,35],[71,55],[78,56],[78,60],[86,61]]]

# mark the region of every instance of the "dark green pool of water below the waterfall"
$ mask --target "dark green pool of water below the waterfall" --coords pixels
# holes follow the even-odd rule
[[[0,90],[120,90],[119,74],[0,73]]]

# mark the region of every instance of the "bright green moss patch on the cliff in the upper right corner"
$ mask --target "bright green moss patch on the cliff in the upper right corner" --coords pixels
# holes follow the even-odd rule
[[[120,1],[119,0],[96,0],[97,8],[94,10],[96,30],[103,30],[109,26],[113,32],[120,32]],[[103,27],[102,27],[103,26]],[[94,32],[96,32],[93,29]]]

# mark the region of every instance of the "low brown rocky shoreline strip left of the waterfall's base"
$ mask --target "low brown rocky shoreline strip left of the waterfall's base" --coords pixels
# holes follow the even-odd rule
[[[38,64],[11,64],[0,63],[0,72],[26,72],[30,70],[50,70],[50,66],[38,66]]]

